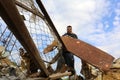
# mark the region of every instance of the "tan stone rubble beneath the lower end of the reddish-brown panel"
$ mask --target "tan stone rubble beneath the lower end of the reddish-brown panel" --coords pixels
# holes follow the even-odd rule
[[[120,58],[113,62],[107,72],[102,72],[88,63],[83,64],[81,71],[86,80],[120,80]]]

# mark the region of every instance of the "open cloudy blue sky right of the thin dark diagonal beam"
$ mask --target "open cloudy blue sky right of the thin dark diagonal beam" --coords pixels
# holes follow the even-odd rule
[[[66,32],[67,25],[71,25],[79,39],[115,58],[120,57],[120,0],[42,0],[42,2],[60,35]],[[78,64],[79,60],[76,61]]]

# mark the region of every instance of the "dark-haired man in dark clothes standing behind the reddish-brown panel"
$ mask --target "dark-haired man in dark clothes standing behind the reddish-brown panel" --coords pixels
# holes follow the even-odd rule
[[[75,39],[78,38],[77,35],[72,32],[72,26],[67,26],[67,33],[65,33],[63,36],[70,36],[70,37],[73,37]],[[71,71],[74,74],[75,73],[75,70],[74,70],[74,55],[71,52],[63,49],[63,57],[65,59],[65,63],[69,67],[68,71]]]

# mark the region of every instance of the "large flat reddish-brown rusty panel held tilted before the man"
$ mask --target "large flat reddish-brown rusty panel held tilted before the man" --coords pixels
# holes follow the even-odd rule
[[[110,69],[114,57],[108,53],[78,39],[62,37],[68,51],[77,57],[99,68],[102,71]]]

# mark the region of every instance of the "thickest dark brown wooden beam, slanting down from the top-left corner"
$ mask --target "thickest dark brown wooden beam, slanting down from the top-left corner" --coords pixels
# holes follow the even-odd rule
[[[15,6],[14,0],[0,0],[0,15],[22,46],[32,55],[37,67],[41,69],[45,76],[48,76],[49,72]]]

